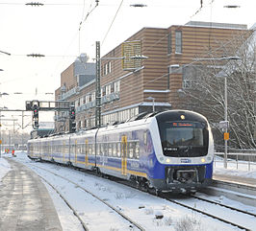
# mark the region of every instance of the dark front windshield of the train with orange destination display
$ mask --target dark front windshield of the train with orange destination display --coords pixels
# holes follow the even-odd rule
[[[208,129],[201,122],[164,122],[160,124],[164,154],[167,156],[202,156],[208,150]]]

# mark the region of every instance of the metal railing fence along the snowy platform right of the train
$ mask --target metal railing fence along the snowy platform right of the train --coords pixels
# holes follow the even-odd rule
[[[222,162],[224,160],[224,152],[215,152],[215,166],[217,163]],[[236,166],[237,170],[239,166],[243,166],[247,171],[256,170],[256,153],[235,153],[229,152],[227,153],[227,165]]]

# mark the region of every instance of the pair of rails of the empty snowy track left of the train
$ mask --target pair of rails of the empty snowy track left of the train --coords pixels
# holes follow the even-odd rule
[[[30,164],[33,166],[33,164]],[[141,227],[141,225],[136,222],[133,219],[130,219],[129,217],[127,217],[125,214],[123,214],[121,211],[119,211],[118,209],[116,209],[114,206],[112,206],[110,203],[108,203],[106,200],[100,198],[99,196],[96,196],[95,194],[91,193],[89,190],[87,190],[86,188],[82,187],[81,185],[75,183],[74,181],[60,175],[57,173],[54,173],[52,171],[49,171],[47,169],[41,168],[37,165],[37,168],[47,172],[47,173],[51,173],[57,177],[60,177],[62,179],[64,179],[65,181],[67,181],[68,183],[71,183],[75,186],[75,188],[80,189],[82,191],[84,191],[85,193],[89,194],[90,196],[93,196],[94,198],[96,198],[98,201],[100,201],[101,203],[105,204],[108,208],[110,208],[112,211],[115,212],[115,215],[118,215],[119,217],[121,217],[122,219],[124,219],[125,221],[129,222],[129,228],[132,230],[141,230],[141,231],[145,231],[145,229],[143,227]],[[76,210],[71,206],[71,204],[68,202],[68,200],[64,197],[64,195],[53,185],[51,184],[48,180],[46,180],[44,177],[42,177],[41,175],[39,175],[40,178],[42,178],[42,180],[44,180],[48,185],[50,185],[63,199],[64,202],[67,204],[67,206],[73,211],[74,215],[80,220],[82,226],[84,227],[85,230],[89,230],[88,225],[86,224],[85,220],[83,220],[83,218],[81,218],[81,216],[79,216],[79,214],[76,212]]]

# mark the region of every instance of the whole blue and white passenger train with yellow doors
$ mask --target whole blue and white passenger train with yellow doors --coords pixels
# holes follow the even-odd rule
[[[32,139],[28,156],[136,181],[162,192],[194,193],[211,183],[214,141],[207,119],[188,110]]]

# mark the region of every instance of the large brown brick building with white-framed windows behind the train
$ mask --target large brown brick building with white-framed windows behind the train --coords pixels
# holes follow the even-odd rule
[[[245,25],[189,22],[166,29],[143,28],[101,58],[102,125],[143,112],[179,108],[179,91],[190,86],[186,75],[194,58],[209,51],[221,57],[219,44],[246,30]],[[84,67],[84,69],[83,69]],[[93,72],[94,71],[94,72]],[[77,129],[95,125],[95,64],[76,60],[61,75],[56,100],[76,108]],[[67,130],[67,114],[56,115],[56,128]]]

